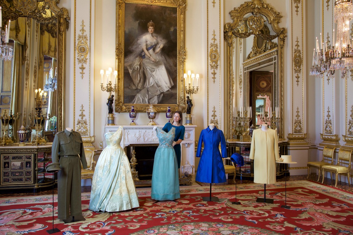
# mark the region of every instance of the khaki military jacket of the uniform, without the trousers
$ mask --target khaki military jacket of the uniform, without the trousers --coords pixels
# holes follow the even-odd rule
[[[52,146],[52,161],[59,162],[59,156],[79,155],[83,169],[87,168],[87,161],[82,137],[76,131],[60,131],[56,133]]]

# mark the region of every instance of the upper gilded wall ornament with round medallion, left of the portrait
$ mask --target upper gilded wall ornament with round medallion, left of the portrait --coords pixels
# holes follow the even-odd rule
[[[82,20],[81,27],[82,27],[80,29],[81,34],[77,36],[76,51],[77,51],[77,62],[81,64],[81,66],[79,67],[79,69],[81,69],[81,72],[80,72],[81,79],[83,79],[83,75],[85,74],[83,70],[86,69],[86,67],[83,64],[87,64],[87,56],[89,53],[88,37],[86,34],[84,34],[86,30],[84,29],[85,25],[83,20]]]

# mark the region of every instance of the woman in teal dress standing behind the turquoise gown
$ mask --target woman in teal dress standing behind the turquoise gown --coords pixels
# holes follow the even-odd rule
[[[163,126],[163,131],[168,132],[172,127],[175,128],[175,138],[173,142],[173,147],[175,154],[177,155],[178,168],[180,168],[181,161],[181,141],[184,140],[185,126],[183,126],[183,113],[180,111],[175,111],[173,117],[173,123],[167,122]]]

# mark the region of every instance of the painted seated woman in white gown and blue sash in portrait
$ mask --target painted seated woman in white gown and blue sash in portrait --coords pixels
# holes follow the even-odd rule
[[[148,32],[135,40],[130,47],[132,53],[125,58],[132,79],[128,88],[139,90],[132,104],[159,104],[163,93],[174,85],[172,76],[176,76],[172,60],[163,53],[168,42],[154,33],[152,20],[146,26]]]

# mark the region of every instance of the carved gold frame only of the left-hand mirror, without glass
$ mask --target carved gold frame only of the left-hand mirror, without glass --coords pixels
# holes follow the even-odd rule
[[[31,17],[38,23],[48,24],[57,20],[56,34],[58,35],[58,109],[56,130],[65,127],[65,64],[66,64],[66,31],[70,17],[66,8],[59,8],[59,0],[0,0],[2,21],[15,20],[18,17]],[[43,17],[46,12],[53,13],[51,17]]]

